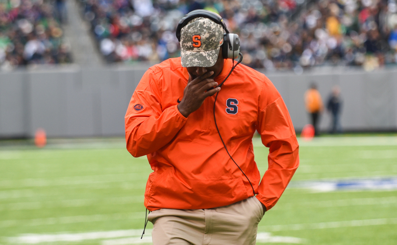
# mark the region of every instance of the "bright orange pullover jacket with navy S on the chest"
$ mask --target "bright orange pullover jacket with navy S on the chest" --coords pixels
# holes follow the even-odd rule
[[[231,60],[225,60],[215,81],[221,83],[231,67]],[[188,118],[178,111],[187,81],[180,58],[150,67],[125,115],[127,150],[135,157],[147,155],[153,170],[145,192],[150,211],[213,208],[253,196],[216,130],[215,95]],[[219,92],[216,120],[227,150],[269,210],[299,165],[298,141],[283,99],[265,75],[240,64]],[[270,148],[262,181],[253,154],[255,130]]]

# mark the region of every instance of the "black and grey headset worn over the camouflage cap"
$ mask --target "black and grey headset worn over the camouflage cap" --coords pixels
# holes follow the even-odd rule
[[[227,30],[225,23],[220,15],[204,10],[198,9],[194,10],[187,15],[185,15],[180,21],[178,22],[178,26],[176,27],[176,38],[180,42],[180,32],[182,28],[187,25],[191,20],[203,17],[212,20],[213,22],[222,25],[223,30],[226,33],[223,33],[223,44],[222,44],[222,55],[223,59],[237,59],[240,53],[240,38],[239,35],[230,33]]]

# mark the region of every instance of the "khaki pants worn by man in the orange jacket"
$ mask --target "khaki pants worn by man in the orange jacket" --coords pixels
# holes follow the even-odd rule
[[[255,245],[263,208],[256,197],[228,206],[150,212],[153,245]]]

